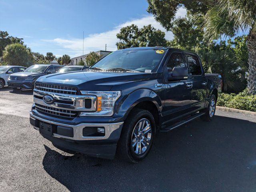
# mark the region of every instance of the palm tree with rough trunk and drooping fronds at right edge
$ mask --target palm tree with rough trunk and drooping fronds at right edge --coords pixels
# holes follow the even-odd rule
[[[251,94],[256,94],[256,1],[218,0],[205,15],[204,28],[209,40],[249,30],[247,87]]]

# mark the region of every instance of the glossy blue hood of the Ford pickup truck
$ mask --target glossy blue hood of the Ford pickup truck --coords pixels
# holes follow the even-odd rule
[[[37,82],[66,84],[76,86],[79,90],[110,90],[112,86],[152,78],[151,73],[144,72],[91,72],[78,71],[42,76]]]

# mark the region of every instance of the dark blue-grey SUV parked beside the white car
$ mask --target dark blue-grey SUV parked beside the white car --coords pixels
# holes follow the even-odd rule
[[[22,88],[34,89],[34,84],[38,77],[56,73],[62,67],[57,64],[32,65],[24,70],[24,72],[11,74],[8,78],[8,86],[13,88],[13,90],[21,90]]]

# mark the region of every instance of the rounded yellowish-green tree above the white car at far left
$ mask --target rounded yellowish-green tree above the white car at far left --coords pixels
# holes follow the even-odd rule
[[[19,43],[7,45],[3,51],[2,59],[10,65],[29,66],[34,63],[30,48]]]

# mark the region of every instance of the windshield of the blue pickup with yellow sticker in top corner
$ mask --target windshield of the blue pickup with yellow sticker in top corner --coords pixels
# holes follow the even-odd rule
[[[166,50],[118,50],[108,54],[98,61],[92,69],[115,69],[124,68],[140,72],[156,72],[159,62],[162,60]]]

